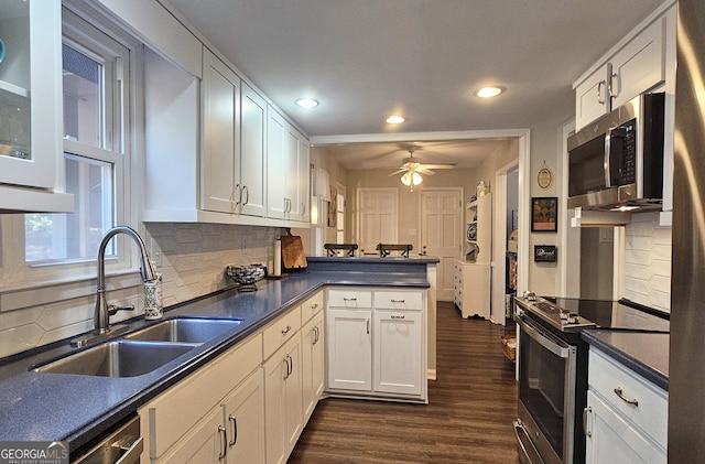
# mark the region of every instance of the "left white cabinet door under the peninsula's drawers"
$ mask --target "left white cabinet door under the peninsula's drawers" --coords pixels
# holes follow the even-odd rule
[[[371,317],[372,310],[328,310],[328,388],[372,390]]]

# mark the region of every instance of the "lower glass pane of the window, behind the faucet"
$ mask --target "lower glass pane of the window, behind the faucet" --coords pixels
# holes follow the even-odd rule
[[[28,262],[96,258],[113,223],[112,164],[66,154],[66,191],[73,214],[24,216]],[[106,255],[115,255],[112,242]]]

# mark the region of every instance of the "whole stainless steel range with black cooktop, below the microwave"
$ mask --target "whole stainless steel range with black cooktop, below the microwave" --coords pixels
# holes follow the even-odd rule
[[[668,314],[628,300],[518,298],[519,403],[514,421],[522,463],[585,462],[581,428],[587,403],[585,328],[669,331]],[[637,326],[629,313],[637,312]]]

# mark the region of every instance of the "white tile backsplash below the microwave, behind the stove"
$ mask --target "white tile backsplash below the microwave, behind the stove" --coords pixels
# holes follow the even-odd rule
[[[631,215],[626,229],[625,298],[671,309],[671,228],[659,226],[659,213]]]

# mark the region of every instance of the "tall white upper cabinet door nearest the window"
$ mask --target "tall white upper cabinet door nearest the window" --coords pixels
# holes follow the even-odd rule
[[[203,69],[203,208],[236,211],[240,78],[207,48]]]

